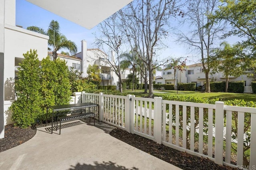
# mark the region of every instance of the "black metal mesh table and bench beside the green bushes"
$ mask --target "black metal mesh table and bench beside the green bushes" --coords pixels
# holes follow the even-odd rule
[[[56,105],[51,106],[49,108],[52,109],[52,131],[53,131],[53,123],[54,127],[57,123],[56,130],[58,128],[58,121],[60,121],[60,129],[61,122],[70,121],[75,119],[82,119],[86,117],[94,117],[94,125],[95,125],[95,113],[91,112],[90,109],[92,107],[98,107],[96,103],[77,103],[70,105]],[[86,109],[87,108],[87,109]]]

